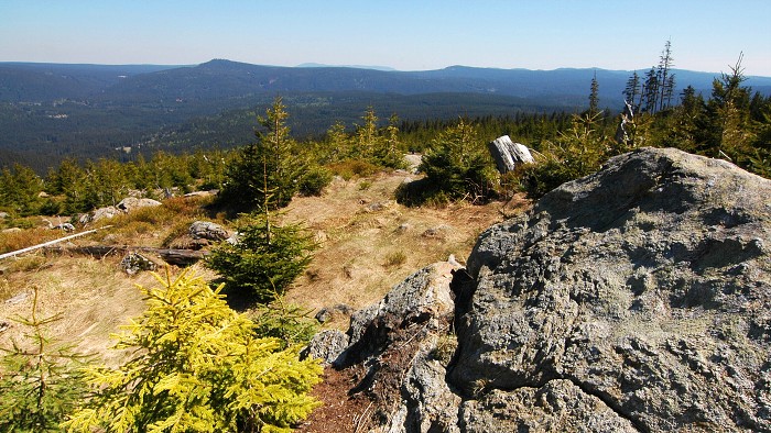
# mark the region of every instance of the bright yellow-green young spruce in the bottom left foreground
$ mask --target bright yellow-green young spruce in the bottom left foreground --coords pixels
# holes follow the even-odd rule
[[[317,406],[317,362],[298,347],[254,335],[218,288],[183,273],[140,290],[148,310],[118,335],[122,366],[88,370],[94,397],[64,423],[69,431],[290,432]]]

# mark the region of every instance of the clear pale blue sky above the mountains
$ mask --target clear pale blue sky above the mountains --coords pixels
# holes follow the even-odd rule
[[[0,62],[676,68],[771,76],[769,0],[0,0]]]

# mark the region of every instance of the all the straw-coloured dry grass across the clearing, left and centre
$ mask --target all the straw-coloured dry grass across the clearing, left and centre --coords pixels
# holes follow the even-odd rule
[[[393,200],[393,191],[406,177],[397,171],[367,179],[338,178],[323,197],[292,201],[283,218],[303,221],[316,234],[321,248],[307,273],[289,291],[289,301],[313,310],[338,303],[362,308],[425,265],[446,260],[450,254],[463,263],[478,234],[502,218],[501,202],[481,207],[458,203],[444,209],[402,207]],[[200,204],[195,199],[173,199],[160,209],[113,219],[109,222],[112,229],[74,242],[165,246],[192,221],[206,218]],[[513,200],[508,206],[510,213],[526,203]],[[437,234],[424,234],[437,227]],[[42,230],[1,233],[0,244],[20,235],[40,238],[29,234]],[[127,276],[119,269],[119,262],[120,257],[95,259],[53,253],[0,262],[0,322],[10,323],[17,314],[29,317],[32,296],[17,302],[7,300],[37,287],[41,313],[63,313],[64,319],[51,331],[53,336],[73,342],[82,351],[96,352],[107,362],[118,362],[119,355],[107,351],[109,334],[143,311],[134,284],[154,284],[149,273]],[[200,265],[194,269],[205,278],[213,277]],[[345,327],[347,322],[340,318],[329,325]],[[8,347],[10,338],[19,337],[20,332],[21,326],[15,324],[0,332],[0,347]]]

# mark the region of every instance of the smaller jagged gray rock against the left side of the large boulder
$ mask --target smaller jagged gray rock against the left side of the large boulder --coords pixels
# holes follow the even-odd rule
[[[363,367],[366,376],[356,388],[377,398],[373,413],[381,422],[373,431],[457,431],[460,397],[445,380],[446,364],[434,356],[453,319],[449,282],[456,269],[448,263],[430,265],[397,285],[380,302],[354,313],[346,335],[348,346],[337,357],[326,357],[334,358],[337,368]],[[327,331],[316,340],[338,342],[341,337]],[[319,344],[310,346],[314,345]],[[321,346],[336,347],[336,343]],[[314,351],[337,354],[337,349]]]

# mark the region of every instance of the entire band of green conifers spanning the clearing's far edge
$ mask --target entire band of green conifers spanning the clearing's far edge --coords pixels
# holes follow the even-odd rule
[[[466,192],[474,190],[471,196],[478,197],[484,190],[489,198],[524,189],[536,197],[563,181],[598,169],[612,155],[641,146],[676,147],[724,158],[771,177],[771,97],[743,86],[741,57],[729,73],[714,80],[712,93],[707,96],[692,87],[673,96],[672,66],[667,43],[659,66],[652,67],[644,80],[637,74],[630,77],[625,91],[629,107],[620,115],[599,109],[601,101],[597,95],[601,82],[595,79],[589,89],[589,109],[579,114],[517,112],[454,121],[402,121],[397,115],[380,119],[374,109],[369,108],[354,124],[337,122],[323,137],[297,142],[289,131],[290,113],[281,104],[281,131],[286,135],[282,140],[291,140],[293,144],[281,156],[283,159],[276,162],[276,167],[283,165],[281,169],[294,173],[290,176],[289,193],[318,193],[333,175],[349,177],[382,168],[401,168],[401,155],[408,152],[424,153],[434,164],[457,168],[453,166],[466,164],[464,158],[469,152],[486,154],[488,142],[508,134],[534,149],[540,164],[503,178],[495,175],[484,180],[461,179],[460,184],[469,185]],[[622,120],[625,129],[619,131]],[[456,134],[459,124],[465,131],[461,137]],[[258,124],[258,133],[260,127],[264,130],[265,125]],[[457,140],[463,143],[453,143]],[[251,198],[237,186],[241,181],[253,185],[259,180],[248,176],[250,170],[254,171],[257,163],[250,162],[249,155],[254,154],[258,142],[260,140],[230,151],[182,155],[156,152],[146,159],[140,155],[127,163],[105,158],[80,165],[67,159],[44,177],[17,164],[0,174],[4,186],[0,192],[0,209],[14,215],[74,214],[115,204],[132,191],[155,197],[170,191],[224,187],[225,191],[235,192],[234,197],[247,203],[245,206],[254,204],[259,199]],[[489,158],[484,164],[492,166]],[[425,173],[433,170],[447,176],[442,169],[425,165],[422,168]],[[453,176],[463,178],[464,173],[460,169]],[[478,185],[480,181],[489,185],[482,188]],[[438,179],[436,182],[442,184]],[[457,187],[458,182],[454,185]],[[447,197],[464,196],[455,191]]]

